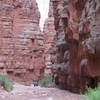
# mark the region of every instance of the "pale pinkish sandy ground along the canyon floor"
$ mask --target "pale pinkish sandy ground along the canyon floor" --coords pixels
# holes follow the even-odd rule
[[[41,88],[14,85],[14,90],[6,92],[0,89],[0,100],[81,100],[77,94],[57,88]]]

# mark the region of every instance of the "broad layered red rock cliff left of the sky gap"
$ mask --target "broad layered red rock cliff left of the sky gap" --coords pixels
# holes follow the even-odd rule
[[[0,68],[38,80],[44,69],[43,33],[35,0],[0,0]]]

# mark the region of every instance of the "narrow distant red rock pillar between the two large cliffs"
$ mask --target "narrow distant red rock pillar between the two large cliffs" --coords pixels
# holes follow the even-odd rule
[[[52,62],[51,62],[51,48],[54,42],[54,37],[56,35],[54,27],[54,16],[53,16],[53,5],[49,4],[48,18],[44,24],[44,46],[45,46],[45,74],[51,74]]]

